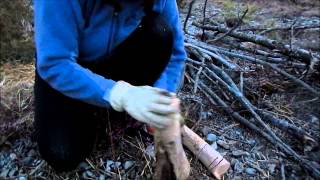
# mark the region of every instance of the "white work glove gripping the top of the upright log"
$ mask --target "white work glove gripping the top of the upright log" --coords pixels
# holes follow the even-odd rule
[[[118,81],[110,92],[110,104],[116,111],[126,111],[138,121],[156,128],[165,128],[171,114],[179,108],[171,106],[174,95],[150,86],[132,86]]]

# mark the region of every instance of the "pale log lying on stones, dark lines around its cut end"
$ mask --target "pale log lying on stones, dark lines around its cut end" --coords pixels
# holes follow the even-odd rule
[[[187,126],[183,126],[182,141],[217,179],[228,171],[230,163]]]

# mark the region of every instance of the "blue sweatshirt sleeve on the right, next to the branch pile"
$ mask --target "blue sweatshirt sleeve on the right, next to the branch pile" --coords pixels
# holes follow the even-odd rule
[[[176,1],[167,0],[162,14],[173,28],[174,43],[170,61],[154,86],[170,92],[176,92],[182,80],[186,59],[183,32]]]

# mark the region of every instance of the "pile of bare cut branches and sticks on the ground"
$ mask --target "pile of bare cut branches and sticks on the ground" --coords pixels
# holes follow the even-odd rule
[[[189,15],[190,10],[191,8]],[[312,176],[320,178],[319,164],[296,152],[270,125],[301,142],[312,144],[313,147],[318,146],[316,138],[287,119],[279,118],[277,113],[270,110],[272,108],[256,106],[248,97],[250,92],[244,92],[250,91],[244,83],[244,75],[248,73],[245,66],[250,64],[260,69],[268,69],[279,79],[288,80],[310,92],[309,94],[318,100],[319,88],[302,79],[319,73],[320,56],[262,35],[238,30],[245,14],[246,12],[239,17],[233,27],[207,20],[205,16],[203,20],[192,22],[193,26],[202,31],[202,35],[191,35],[186,31],[189,15],[187,16],[184,26],[188,53],[186,80],[192,84],[193,93],[200,91],[212,105],[222,108],[242,125],[276,145]],[[292,69],[302,71],[302,77],[297,77],[297,73],[294,74]],[[239,109],[246,113],[239,113]]]

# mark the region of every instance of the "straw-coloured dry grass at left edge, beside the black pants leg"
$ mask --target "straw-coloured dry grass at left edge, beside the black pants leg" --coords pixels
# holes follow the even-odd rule
[[[33,64],[3,64],[0,67],[0,134],[33,119]]]

